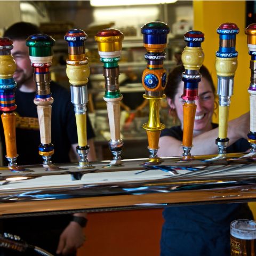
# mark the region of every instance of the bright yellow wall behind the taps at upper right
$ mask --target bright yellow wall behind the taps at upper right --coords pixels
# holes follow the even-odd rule
[[[234,95],[231,97],[229,119],[234,119],[249,111],[249,93],[251,72],[249,69],[250,55],[248,54],[245,29],[245,1],[194,1],[194,29],[205,35],[202,47],[205,53],[204,65],[209,68],[215,86],[217,75],[215,71],[215,52],[219,47],[219,35],[216,30],[221,23],[236,23],[240,29],[236,36],[238,51],[238,68],[235,74]],[[218,119],[214,118],[214,122]]]

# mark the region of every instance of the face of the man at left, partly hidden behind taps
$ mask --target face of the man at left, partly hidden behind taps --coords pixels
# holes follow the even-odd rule
[[[13,49],[11,50],[17,68],[13,75],[18,87],[31,82],[34,76],[34,68],[30,65],[29,51],[25,40],[13,41]]]

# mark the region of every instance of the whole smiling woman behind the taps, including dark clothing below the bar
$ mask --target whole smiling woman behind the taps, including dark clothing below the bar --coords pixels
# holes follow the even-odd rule
[[[183,66],[175,67],[169,74],[165,93],[170,108],[180,119],[180,126],[164,129],[159,139],[158,156],[180,156],[183,152]],[[212,123],[215,89],[209,71],[202,66],[202,80],[198,85],[196,115],[193,130],[193,155],[215,154],[218,147],[218,124]],[[249,149],[244,138],[249,132],[249,114],[229,122],[229,147],[227,151]],[[166,207],[161,238],[161,256],[169,255],[230,255],[229,225],[232,220],[252,219],[247,204],[215,204],[186,207]],[[186,244],[184,247],[183,245]],[[182,253],[180,248],[182,249]]]

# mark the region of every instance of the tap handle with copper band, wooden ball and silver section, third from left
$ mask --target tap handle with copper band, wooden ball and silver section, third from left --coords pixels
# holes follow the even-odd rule
[[[87,145],[86,134],[86,104],[88,102],[87,83],[90,74],[88,59],[85,55],[85,40],[87,35],[81,29],[69,30],[65,35],[68,42],[67,76],[70,83],[71,102],[74,104],[78,146],[80,156],[78,169],[92,168],[87,154],[90,147]]]

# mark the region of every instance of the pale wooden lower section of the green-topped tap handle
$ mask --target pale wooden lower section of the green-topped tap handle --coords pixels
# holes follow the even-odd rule
[[[37,106],[37,115],[40,128],[40,138],[42,144],[49,144],[52,142],[51,136],[51,116],[52,106]]]

